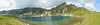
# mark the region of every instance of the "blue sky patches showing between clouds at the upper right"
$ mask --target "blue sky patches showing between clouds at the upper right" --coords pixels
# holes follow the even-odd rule
[[[76,4],[74,4],[74,5],[76,5]],[[81,4],[82,5],[82,7],[85,7],[85,8],[87,8],[84,4]],[[89,4],[90,5],[90,4]],[[92,9],[92,8],[87,8],[87,9],[89,9],[89,10],[91,10],[91,11],[97,11],[97,12],[100,12],[100,0],[95,0],[95,2],[93,3],[93,6],[94,6],[94,8],[96,8],[96,9]],[[92,6],[92,7],[93,7]],[[80,7],[79,5],[77,6],[77,7]]]

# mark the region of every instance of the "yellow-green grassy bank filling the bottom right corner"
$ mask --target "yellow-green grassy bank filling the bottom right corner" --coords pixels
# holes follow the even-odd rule
[[[76,25],[100,25],[100,13],[95,12],[91,17],[87,17],[82,23]]]

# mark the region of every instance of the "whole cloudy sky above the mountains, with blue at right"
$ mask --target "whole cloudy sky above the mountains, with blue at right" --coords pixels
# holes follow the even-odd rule
[[[51,9],[66,2],[77,7],[85,7],[91,11],[100,12],[100,0],[0,0],[0,11],[20,9],[25,7],[41,7]]]

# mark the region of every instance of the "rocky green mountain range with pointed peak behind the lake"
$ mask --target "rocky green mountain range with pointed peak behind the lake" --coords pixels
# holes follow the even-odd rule
[[[39,16],[82,16],[95,11],[89,11],[84,7],[76,7],[73,4],[67,5],[65,2],[50,10],[43,8],[26,7],[24,9],[14,9],[1,11],[1,15],[16,17],[39,17]]]

